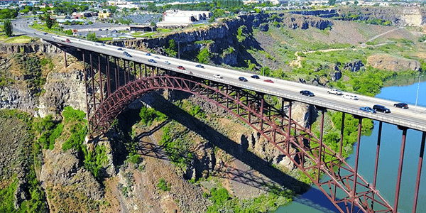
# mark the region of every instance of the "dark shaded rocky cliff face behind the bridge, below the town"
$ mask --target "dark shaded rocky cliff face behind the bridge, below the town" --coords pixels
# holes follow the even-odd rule
[[[315,16],[303,16],[291,13],[258,13],[239,16],[233,19],[223,19],[219,23],[213,23],[207,27],[200,27],[178,33],[170,33],[160,38],[143,38],[137,40],[110,41],[114,45],[125,45],[128,48],[139,50],[151,49],[156,53],[165,54],[164,48],[168,48],[168,41],[175,40],[175,45],[180,46],[180,58],[195,60],[197,54],[203,48],[209,48],[212,53],[211,61],[217,65],[225,64],[231,66],[246,66],[245,60],[253,60],[252,56],[246,52],[250,48],[260,48],[258,42],[253,38],[253,29],[259,28],[261,31],[268,31],[273,24],[277,27],[285,26],[292,29],[318,28],[324,30],[332,26],[332,21]],[[238,40],[236,35],[241,26],[244,40]],[[202,41],[211,40],[207,45]],[[234,52],[227,53],[229,47],[234,48]],[[176,48],[177,50],[177,48]],[[254,61],[254,60],[253,60]]]

